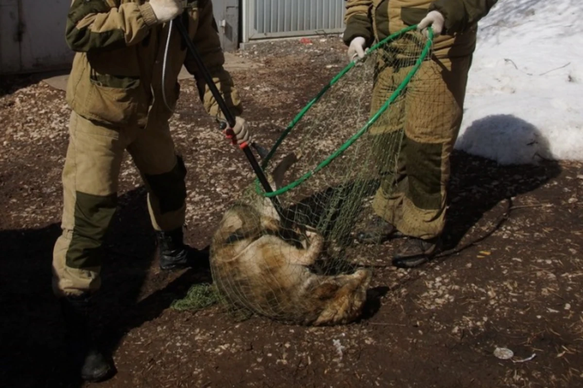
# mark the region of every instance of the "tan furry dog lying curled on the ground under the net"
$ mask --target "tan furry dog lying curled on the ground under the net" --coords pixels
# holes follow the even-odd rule
[[[268,175],[273,190],[298,160],[290,154]],[[297,325],[336,325],[362,312],[370,270],[318,275],[324,238],[307,226],[283,222],[269,198],[250,188],[247,201],[223,216],[210,245],[210,268],[220,295],[233,307]]]

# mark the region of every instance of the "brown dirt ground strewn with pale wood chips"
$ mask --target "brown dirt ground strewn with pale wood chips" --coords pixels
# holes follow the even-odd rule
[[[233,77],[266,144],[345,64],[337,37],[240,55],[264,65]],[[83,385],[64,365],[51,293],[69,109],[64,92],[33,77],[0,88],[0,386],[583,386],[581,163],[498,166],[461,152],[452,158],[450,254],[403,270],[390,265],[398,241],[380,247],[363,318],[333,328],[234,322],[218,306],[169,308],[210,275],[160,272],[145,190],[126,158],[95,312],[118,372]],[[186,237],[204,248],[230,193],[252,175],[203,116],[191,80],[182,81],[178,111],[171,124],[189,171]],[[496,347],[515,357],[498,359]]]

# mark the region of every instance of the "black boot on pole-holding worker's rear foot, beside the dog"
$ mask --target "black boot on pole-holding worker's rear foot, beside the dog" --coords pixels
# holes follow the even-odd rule
[[[205,262],[202,252],[184,244],[184,233],[182,233],[181,227],[170,232],[156,231],[156,240],[161,269],[174,270],[208,266],[208,259]]]

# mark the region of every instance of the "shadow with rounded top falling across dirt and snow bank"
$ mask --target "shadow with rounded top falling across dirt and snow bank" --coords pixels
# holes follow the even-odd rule
[[[519,159],[529,159],[536,164],[500,165],[491,159],[454,152],[444,230],[446,250],[455,248],[473,226],[478,223],[483,226],[484,216],[501,202],[536,190],[561,173],[559,163],[540,157],[550,154],[548,140],[531,123],[515,116],[494,115],[477,120],[466,129],[462,140],[470,149],[477,149],[480,142],[484,148],[491,147],[492,152],[484,155],[498,152],[498,159],[510,160],[510,156],[500,154],[508,154],[508,151],[496,151],[510,149],[520,155]],[[503,211],[497,213],[500,216]],[[483,232],[468,237],[479,239]]]

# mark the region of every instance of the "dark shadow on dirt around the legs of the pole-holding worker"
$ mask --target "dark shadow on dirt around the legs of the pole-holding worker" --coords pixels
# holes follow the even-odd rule
[[[210,281],[208,271],[188,269],[171,280],[171,273],[151,270],[155,243],[145,190],[122,195],[120,205],[106,237],[103,284],[93,317],[97,339],[109,350],[115,350],[129,330],[184,297],[192,284]],[[82,386],[66,368],[62,319],[51,290],[52,247],[59,233],[57,223],[41,229],[0,231],[2,386]],[[141,299],[145,294],[149,296]]]

